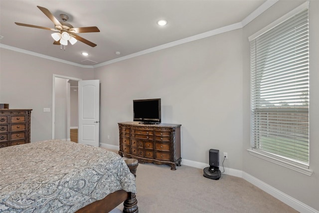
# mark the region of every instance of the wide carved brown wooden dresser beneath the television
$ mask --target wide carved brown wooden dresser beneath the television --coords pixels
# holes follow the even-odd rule
[[[119,124],[119,154],[138,159],[140,163],[180,166],[180,124]]]

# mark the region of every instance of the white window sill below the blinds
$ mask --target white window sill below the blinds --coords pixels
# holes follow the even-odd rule
[[[284,161],[284,160],[282,160],[280,158],[276,158],[275,156],[271,156],[271,155],[267,155],[267,154],[262,153],[262,152],[258,152],[258,151],[254,150],[254,149],[248,149],[247,151],[249,152],[250,155],[253,155],[255,157],[264,159],[264,160],[272,162],[274,164],[286,167],[286,168],[294,170],[296,172],[300,172],[300,173],[302,173],[304,175],[311,176],[314,173],[314,171],[311,170],[311,169],[295,165],[295,164],[290,163],[288,161]]]

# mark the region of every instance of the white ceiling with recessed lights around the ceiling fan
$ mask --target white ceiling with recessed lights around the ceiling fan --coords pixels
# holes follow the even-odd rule
[[[263,3],[266,0],[0,0],[0,45],[94,65],[241,22]],[[54,28],[37,5],[58,20],[67,14],[74,27],[97,26],[100,32],[79,33],[97,46],[78,41],[61,50],[53,45],[53,31],[14,23]],[[159,19],[168,24],[157,25]],[[83,51],[89,56],[82,56]]]

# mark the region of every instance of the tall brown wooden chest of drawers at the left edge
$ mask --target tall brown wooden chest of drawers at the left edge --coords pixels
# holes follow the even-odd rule
[[[0,109],[0,148],[30,143],[32,109]]]

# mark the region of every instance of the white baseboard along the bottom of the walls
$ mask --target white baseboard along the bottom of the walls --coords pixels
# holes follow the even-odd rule
[[[104,143],[101,143],[100,147],[104,147],[107,149],[119,150],[119,146],[104,144]],[[187,159],[182,159],[181,165],[195,167],[198,169],[204,169],[206,167],[209,167],[208,164],[196,162],[196,161],[191,161],[191,160],[187,160]],[[219,169],[221,170],[221,172],[223,172],[223,167],[219,167]],[[242,179],[248,181],[249,183],[255,185],[256,187],[258,187],[261,190],[265,191],[266,193],[270,194],[271,196],[277,198],[281,202],[287,204],[291,208],[294,208],[298,212],[319,213],[319,211],[317,211],[317,210],[311,208],[310,206],[298,201],[297,199],[294,199],[291,196],[277,190],[276,188],[266,184],[265,182],[262,182],[261,180],[249,175],[246,172],[243,172],[241,170],[226,168],[226,167],[224,169],[225,169],[225,172],[223,174],[239,177],[239,178],[242,178]]]

